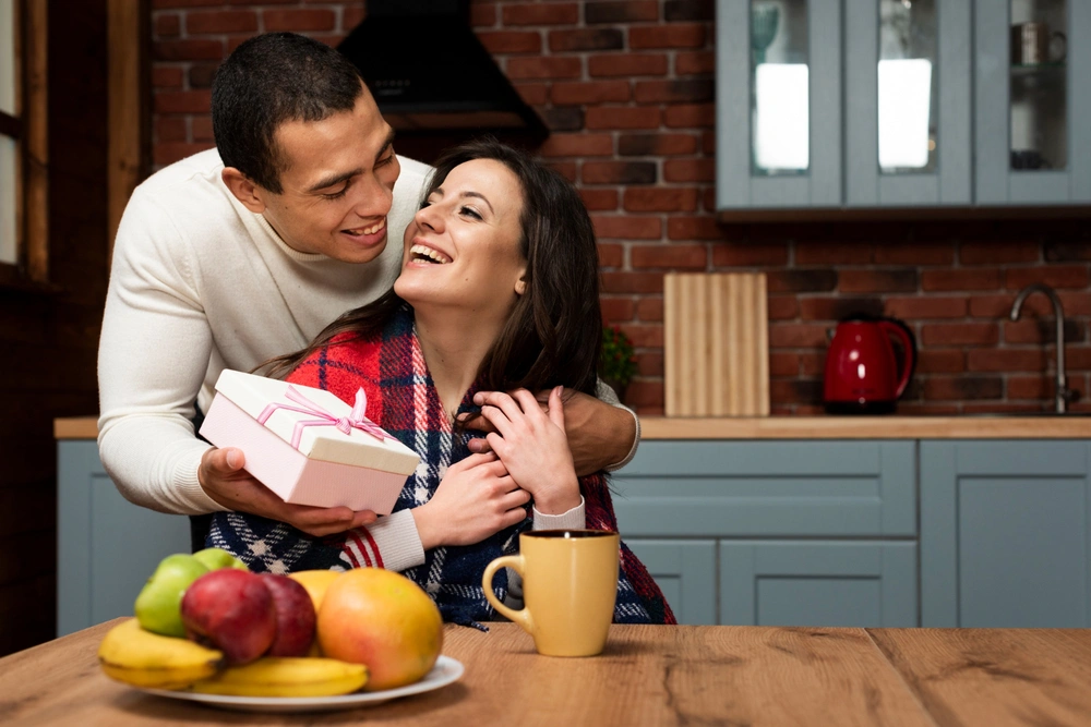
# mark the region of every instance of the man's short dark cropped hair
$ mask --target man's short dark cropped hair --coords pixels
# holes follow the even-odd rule
[[[317,40],[295,33],[250,38],[224,61],[212,84],[212,128],[224,165],[280,194],[287,160],[276,144],[277,129],[351,111],[362,83],[351,61]]]

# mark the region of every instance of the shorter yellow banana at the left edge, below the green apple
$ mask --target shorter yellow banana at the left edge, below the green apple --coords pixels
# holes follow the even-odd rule
[[[98,646],[106,676],[134,687],[184,689],[216,674],[223,652],[185,639],[152,633],[129,619],[110,629]]]

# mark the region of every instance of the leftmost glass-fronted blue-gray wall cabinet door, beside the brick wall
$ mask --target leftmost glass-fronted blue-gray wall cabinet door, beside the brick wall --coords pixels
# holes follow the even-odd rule
[[[841,0],[717,0],[716,199],[841,205]]]

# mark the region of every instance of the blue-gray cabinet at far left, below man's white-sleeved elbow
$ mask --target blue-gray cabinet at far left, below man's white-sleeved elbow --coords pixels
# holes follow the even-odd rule
[[[94,440],[62,440],[57,453],[57,635],[63,637],[132,616],[159,560],[190,552],[190,523],[121,497]]]

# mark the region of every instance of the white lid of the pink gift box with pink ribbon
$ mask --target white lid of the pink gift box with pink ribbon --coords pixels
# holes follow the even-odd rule
[[[285,396],[288,386],[286,381],[230,368],[225,368],[216,380],[218,396],[226,397],[255,420],[271,403],[300,408],[299,403]],[[309,401],[334,416],[347,417],[352,412],[349,404],[329,391],[299,384],[290,386]],[[317,417],[314,414],[277,409],[265,421],[264,426],[290,444],[297,422],[309,422],[315,419]],[[417,464],[420,462],[417,452],[389,435],[380,441],[377,437],[355,427],[349,431],[349,434],[345,434],[333,424],[303,427],[298,449],[302,455],[313,460],[365,467],[407,476],[417,469]]]

